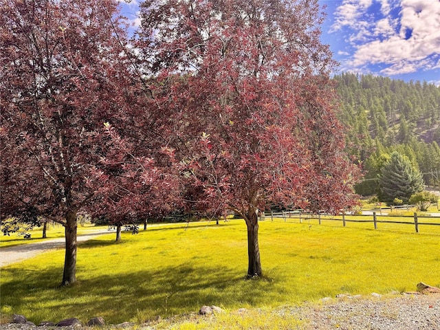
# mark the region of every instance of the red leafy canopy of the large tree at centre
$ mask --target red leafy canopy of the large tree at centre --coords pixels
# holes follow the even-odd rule
[[[142,4],[151,90],[197,208],[250,221],[270,203],[353,203],[358,172],[342,152],[318,10],[308,0]]]

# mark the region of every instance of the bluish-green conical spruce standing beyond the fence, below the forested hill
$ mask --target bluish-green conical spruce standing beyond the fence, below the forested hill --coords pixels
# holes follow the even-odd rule
[[[420,171],[412,166],[408,157],[397,151],[391,154],[379,175],[380,199],[392,202],[398,198],[408,202],[411,195],[423,190],[424,183]]]

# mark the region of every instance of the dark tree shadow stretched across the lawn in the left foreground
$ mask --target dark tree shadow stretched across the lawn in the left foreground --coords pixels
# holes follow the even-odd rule
[[[274,289],[272,281],[264,278],[245,281],[243,274],[226,267],[188,264],[118,276],[82,274],[70,287],[56,287],[61,270],[7,267],[2,273],[8,280],[1,283],[1,305],[8,305],[12,313],[25,313],[32,322],[73,317],[87,322],[94,316],[110,324],[144,322],[154,316],[198,311],[202,305],[256,305]],[[48,308],[52,314],[47,314]]]

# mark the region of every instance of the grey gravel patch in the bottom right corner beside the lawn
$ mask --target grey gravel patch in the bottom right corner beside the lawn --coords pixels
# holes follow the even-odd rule
[[[332,300],[292,313],[304,330],[440,330],[440,294]]]

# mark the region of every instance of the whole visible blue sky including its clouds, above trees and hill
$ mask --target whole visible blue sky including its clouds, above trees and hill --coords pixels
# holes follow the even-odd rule
[[[440,0],[318,0],[325,5],[322,42],[338,73],[426,80],[440,86]],[[135,23],[142,0],[122,3]]]

